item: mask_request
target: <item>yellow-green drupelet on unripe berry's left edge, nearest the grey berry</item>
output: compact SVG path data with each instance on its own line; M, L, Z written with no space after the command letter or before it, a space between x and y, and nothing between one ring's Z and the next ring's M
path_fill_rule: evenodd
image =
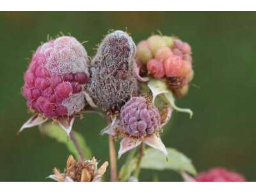
M143 40L137 45L136 57L143 64L147 64L147 62L153 58L147 41Z

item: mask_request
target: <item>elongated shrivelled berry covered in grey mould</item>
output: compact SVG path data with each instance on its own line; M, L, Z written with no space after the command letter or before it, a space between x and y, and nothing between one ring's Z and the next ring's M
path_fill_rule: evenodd
M90 68L87 92L104 110L120 109L132 93L138 92L134 74L136 46L127 33L109 33L99 46Z

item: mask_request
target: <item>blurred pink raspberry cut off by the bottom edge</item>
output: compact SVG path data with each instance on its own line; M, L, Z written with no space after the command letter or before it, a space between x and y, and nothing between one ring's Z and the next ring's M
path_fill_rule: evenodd
M217 181L246 181L246 179L243 177L243 175L236 173L236 172L230 172L226 170L225 168L212 168L208 172L200 173L195 177L196 181L200 182L217 182Z

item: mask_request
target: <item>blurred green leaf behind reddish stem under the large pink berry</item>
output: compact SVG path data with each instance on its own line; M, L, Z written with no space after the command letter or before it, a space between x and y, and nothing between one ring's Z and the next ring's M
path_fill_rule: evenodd
M50 138L65 144L69 152L73 154L76 159L80 159L74 143L68 138L67 133L63 131L63 129L61 129L58 124L45 124L42 127L41 131L43 134L49 136ZM76 140L79 143L80 147L82 148L83 154L85 155L86 159L92 158L92 152L90 151L90 148L86 145L86 141L84 140L83 136L79 132L72 132L76 137Z

